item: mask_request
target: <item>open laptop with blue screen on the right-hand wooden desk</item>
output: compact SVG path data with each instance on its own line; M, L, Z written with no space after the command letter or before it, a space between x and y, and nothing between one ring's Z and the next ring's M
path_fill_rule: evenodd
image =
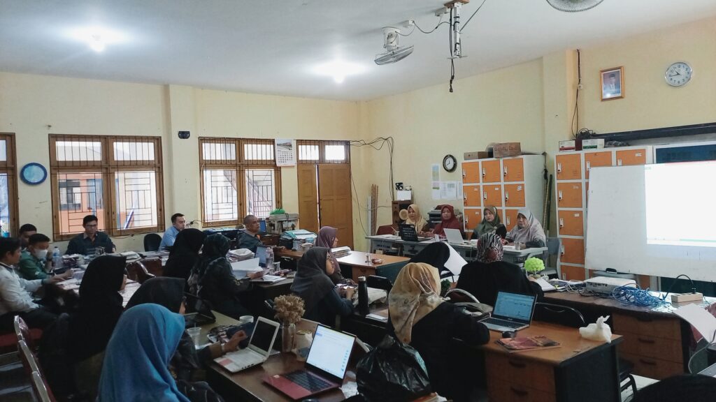
M498 292L495 308L490 318L480 323L490 330L521 330L530 326L536 297L522 293Z

